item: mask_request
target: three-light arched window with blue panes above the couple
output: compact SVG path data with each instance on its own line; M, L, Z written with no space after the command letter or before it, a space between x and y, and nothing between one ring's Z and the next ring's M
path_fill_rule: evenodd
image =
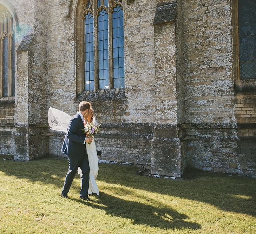
M122 0L87 0L83 8L84 90L124 88Z

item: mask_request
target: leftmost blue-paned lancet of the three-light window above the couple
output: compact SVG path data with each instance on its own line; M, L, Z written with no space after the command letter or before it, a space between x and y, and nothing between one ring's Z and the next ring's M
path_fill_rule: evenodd
M94 89L94 55L93 55L93 15L88 12L84 19L85 27L85 90Z

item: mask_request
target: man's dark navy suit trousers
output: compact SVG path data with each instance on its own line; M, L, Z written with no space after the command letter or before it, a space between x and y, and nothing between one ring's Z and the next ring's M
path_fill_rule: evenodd
M82 171L80 196L88 196L90 167L86 152L83 157L68 156L68 172L62 189L62 194L64 196L67 195L70 190L73 179L77 174L78 167L80 167Z

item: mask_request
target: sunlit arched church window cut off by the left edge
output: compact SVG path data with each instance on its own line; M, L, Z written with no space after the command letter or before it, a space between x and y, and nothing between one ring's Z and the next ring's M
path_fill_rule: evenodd
M8 9L0 5L0 97L15 95L15 27Z

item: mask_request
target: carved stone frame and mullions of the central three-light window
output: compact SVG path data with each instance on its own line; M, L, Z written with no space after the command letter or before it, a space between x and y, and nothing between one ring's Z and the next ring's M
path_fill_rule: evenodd
M84 6L88 5L90 0L81 0L77 4L76 8L76 93L81 94L85 91L84 85L84 15L88 12ZM124 0L123 0L124 1ZM123 1L119 0L108 0L107 14L108 14L108 24L109 24L109 89L113 89L113 51L112 51L112 12L116 5L120 5L124 11ZM94 4L93 4L94 2ZM98 79L98 11L101 7L97 7L97 0L91 0L92 11L93 12L93 25L94 25L94 90L96 92L99 89L99 79ZM133 1L129 2L131 4ZM125 14L125 12L124 12ZM124 89L124 88L120 88Z

